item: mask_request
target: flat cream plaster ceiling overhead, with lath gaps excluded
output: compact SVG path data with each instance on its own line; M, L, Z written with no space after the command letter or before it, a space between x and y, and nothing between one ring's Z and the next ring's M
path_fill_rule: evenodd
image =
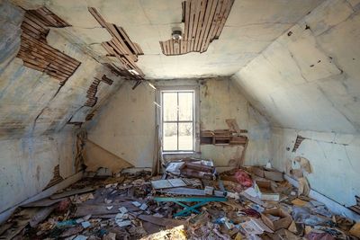
M100 46L111 36L100 27L87 7L96 8L107 22L121 26L144 51L137 63L145 78L231 76L311 12L322 0L236 0L219 40L205 53L165 56L159 41L171 37L173 27L184 31L182 0L14 0L23 7L46 5L72 27L58 30L98 58L106 52ZM86 45L86 46L85 46Z

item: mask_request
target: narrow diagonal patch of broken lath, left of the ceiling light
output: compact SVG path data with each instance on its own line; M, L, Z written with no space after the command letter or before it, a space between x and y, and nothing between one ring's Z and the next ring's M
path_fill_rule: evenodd
M120 60L122 65L119 71L121 73L120 75L130 76L131 79L143 79L143 72L135 64L135 62L138 61L138 56L144 54L139 44L132 42L128 34L121 27L106 22L94 7L89 7L88 10L93 14L96 21L112 35L112 40L103 42L102 45L110 56ZM127 71L128 74L130 73L130 75L124 74L124 70Z

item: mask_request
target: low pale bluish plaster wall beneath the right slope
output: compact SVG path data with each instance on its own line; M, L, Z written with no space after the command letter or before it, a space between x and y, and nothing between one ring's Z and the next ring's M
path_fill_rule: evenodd
M311 189L342 205L356 205L360 194L360 136L294 129L272 129L272 164L284 171L286 161L307 158L313 173L307 175ZM295 153L296 136L306 138ZM289 147L290 150L286 150Z

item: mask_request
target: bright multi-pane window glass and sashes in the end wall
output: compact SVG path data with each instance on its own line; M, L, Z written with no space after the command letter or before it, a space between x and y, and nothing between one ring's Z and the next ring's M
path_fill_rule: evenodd
M164 152L194 151L194 91L161 91Z

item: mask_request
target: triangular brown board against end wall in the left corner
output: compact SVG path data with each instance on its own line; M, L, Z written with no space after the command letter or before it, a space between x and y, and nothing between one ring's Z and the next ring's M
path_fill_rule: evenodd
M126 160L112 154L90 140L86 141L84 152L87 172L96 172L99 168L103 167L111 170L112 173L119 173L124 168L133 167Z

